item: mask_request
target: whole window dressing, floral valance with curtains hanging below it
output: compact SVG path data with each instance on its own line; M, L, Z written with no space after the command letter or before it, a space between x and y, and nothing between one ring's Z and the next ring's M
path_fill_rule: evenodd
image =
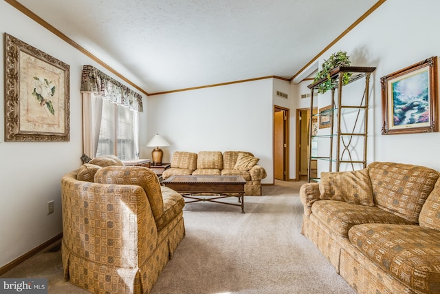
M91 65L83 66L81 93L84 154L138 158L142 96Z

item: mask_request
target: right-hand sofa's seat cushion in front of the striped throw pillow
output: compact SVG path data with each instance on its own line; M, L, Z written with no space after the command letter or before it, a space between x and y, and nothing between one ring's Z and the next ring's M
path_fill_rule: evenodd
M355 224L412 224L378 207L366 207L336 200L319 200L311 206L312 215L331 229L336 235L348 237Z

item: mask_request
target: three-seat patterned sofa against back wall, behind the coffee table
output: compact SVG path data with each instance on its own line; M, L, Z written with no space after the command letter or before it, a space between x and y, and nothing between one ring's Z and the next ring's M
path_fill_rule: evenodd
M257 165L259 158L245 151L200 151L198 154L176 151L171 158L171 167L162 178L170 176L208 175L243 176L246 180L245 195L261 196L261 180L266 171Z

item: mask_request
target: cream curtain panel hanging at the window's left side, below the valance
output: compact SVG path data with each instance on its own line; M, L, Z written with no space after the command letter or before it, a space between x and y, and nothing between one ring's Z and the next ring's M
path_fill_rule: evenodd
M102 117L102 98L91 92L83 92L83 153L96 156Z

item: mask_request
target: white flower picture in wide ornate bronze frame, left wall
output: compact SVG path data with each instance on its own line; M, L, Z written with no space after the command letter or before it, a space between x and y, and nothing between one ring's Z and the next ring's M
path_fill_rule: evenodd
M5 33L5 140L69 141L66 63Z

